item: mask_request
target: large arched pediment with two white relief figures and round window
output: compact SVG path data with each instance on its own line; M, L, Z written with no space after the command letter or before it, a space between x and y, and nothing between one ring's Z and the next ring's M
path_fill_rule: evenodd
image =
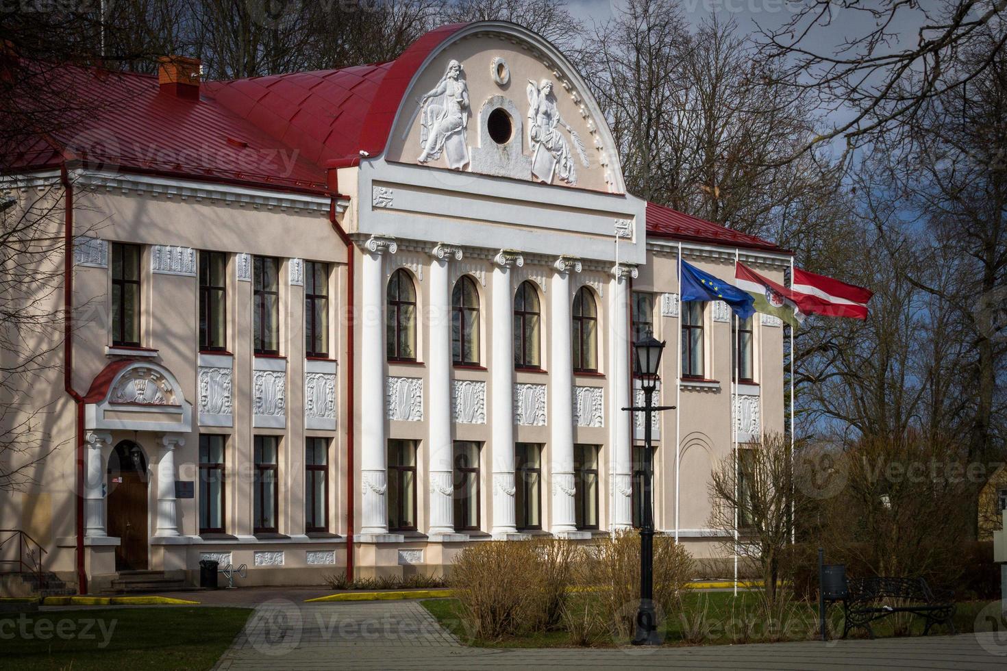
M623 193L612 135L567 58L521 26L484 21L427 54L399 108L386 158Z

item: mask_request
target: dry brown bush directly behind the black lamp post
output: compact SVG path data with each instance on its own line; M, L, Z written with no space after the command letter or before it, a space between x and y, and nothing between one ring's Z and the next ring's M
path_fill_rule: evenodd
M639 533L616 532L585 555L586 581L598 590L602 612L613 633L630 636L639 602ZM693 558L670 536L654 537L654 602L659 618L679 610L680 596L693 574ZM661 622L658 623L659 627Z

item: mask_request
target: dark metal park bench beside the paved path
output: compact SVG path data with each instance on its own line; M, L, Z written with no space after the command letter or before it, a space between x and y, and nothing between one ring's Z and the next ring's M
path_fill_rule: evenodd
M871 623L893 613L912 613L925 618L923 636L933 625L948 625L955 634L955 603L953 593L930 590L921 577L860 577L850 578L849 594L843 603L846 623L843 638L853 629L862 627L873 639Z

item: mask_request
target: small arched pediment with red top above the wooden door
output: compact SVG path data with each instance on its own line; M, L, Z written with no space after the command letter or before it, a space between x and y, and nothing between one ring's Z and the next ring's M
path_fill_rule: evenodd
M170 370L148 360L111 362L92 382L85 397L89 430L186 433L192 404Z

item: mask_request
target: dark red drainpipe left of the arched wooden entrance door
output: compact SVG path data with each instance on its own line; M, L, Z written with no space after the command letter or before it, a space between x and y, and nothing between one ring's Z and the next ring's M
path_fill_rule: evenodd
M66 161L59 166L59 181L63 187L63 388L77 406L77 584L78 592L88 594L88 572L84 561L84 396L74 388L74 185L69 181Z

